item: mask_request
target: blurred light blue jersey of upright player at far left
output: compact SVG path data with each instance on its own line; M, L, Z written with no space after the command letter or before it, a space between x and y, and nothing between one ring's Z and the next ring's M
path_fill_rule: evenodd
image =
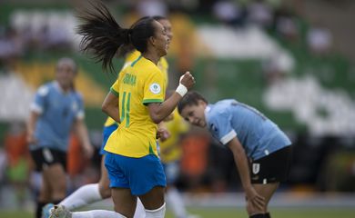
M37 144L31 144L30 149L49 147L66 152L74 122L84 118L81 95L65 93L56 82L44 84L35 94L31 110L40 115L35 124Z

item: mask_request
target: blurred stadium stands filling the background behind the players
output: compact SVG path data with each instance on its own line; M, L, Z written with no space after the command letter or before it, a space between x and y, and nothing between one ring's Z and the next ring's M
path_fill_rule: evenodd
M355 217L354 1L104 2L126 27L143 15L170 19L170 88L190 71L197 80L195 90L209 102L236 98L258 108L289 135L294 144L289 182L280 186L271 206L346 207L349 217ZM79 52L75 10L85 3L0 0L0 213L33 210L39 181L32 173L25 121L36 88L54 78L59 57L73 57L79 64L76 87L84 95L96 152L100 147L106 120L100 106L117 74L104 74L100 64ZM115 64L119 71L123 60ZM195 128L180 145L177 187L188 205L243 210L229 151ZM68 192L96 183L99 164L98 154L83 157L73 134Z

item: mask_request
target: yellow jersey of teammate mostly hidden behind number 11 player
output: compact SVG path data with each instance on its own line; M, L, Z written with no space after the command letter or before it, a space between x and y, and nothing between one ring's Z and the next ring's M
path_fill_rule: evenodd
M126 60L125 60L125 64L123 65L122 69L124 69L127 65L132 64L135 60L137 60L137 58L139 56L140 56L140 52L138 52L137 50L133 51L130 54L127 54L127 57L126 57ZM166 87L167 87L167 83L168 83L167 70L168 70L168 67L169 67L169 65L167 64L167 59L165 57L161 57L159 62L157 63L157 67L159 67L161 72L163 72L164 81L165 81ZM108 116L104 126L110 126L112 124L116 124L116 121Z

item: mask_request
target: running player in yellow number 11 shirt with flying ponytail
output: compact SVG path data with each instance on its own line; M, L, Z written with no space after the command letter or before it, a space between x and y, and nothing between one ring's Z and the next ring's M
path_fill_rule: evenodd
M55 206L51 216L133 217L139 196L146 217L164 217L166 180L157 157L157 124L172 113L195 79L190 73L184 74L176 92L164 101L166 83L157 67L160 57L167 54L169 43L163 25L148 17L125 29L105 5L94 7L95 11L81 16L85 24L79 25L85 51L95 54L104 69L113 68L112 59L122 46L133 45L141 53L112 86L108 95L116 95L116 101L103 105L103 111L119 124L105 147L115 212L69 213L65 207Z

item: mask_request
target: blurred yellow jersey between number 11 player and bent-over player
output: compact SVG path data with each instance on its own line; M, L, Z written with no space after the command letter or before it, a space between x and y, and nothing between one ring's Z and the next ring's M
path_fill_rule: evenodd
M177 161L181 157L181 144L179 137L188 132L187 122L177 113L173 112L174 118L165 122L164 125L170 132L170 137L165 142L160 142L160 158L163 163Z

